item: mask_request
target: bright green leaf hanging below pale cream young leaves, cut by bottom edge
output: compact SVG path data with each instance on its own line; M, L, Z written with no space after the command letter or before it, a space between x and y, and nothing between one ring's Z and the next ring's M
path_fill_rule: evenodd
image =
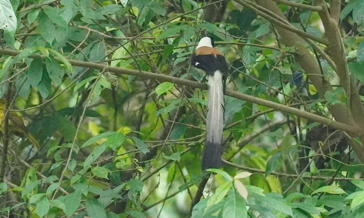
M225 205L222 210L223 218L246 218L245 199L237 191L230 189L225 199Z

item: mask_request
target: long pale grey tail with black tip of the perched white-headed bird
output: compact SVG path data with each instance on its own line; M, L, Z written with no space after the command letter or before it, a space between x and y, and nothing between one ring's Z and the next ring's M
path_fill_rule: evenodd
M224 94L222 73L219 70L209 76L209 103L207 106L205 150L202 154L202 170L221 166L222 129L224 121Z

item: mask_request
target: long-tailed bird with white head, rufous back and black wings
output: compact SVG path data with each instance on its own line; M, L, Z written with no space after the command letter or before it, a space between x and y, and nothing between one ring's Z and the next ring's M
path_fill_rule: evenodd
M214 40L203 37L192 55L191 64L209 75L209 100L206 117L205 149L202 152L202 170L222 165L222 130L224 122L224 92L227 64L222 52L214 47Z

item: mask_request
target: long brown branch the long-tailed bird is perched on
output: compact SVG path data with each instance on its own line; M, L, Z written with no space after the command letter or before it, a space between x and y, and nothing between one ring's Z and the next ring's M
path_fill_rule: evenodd
M4 55L16 56L20 52L19 51L14 51L14 50L9 50L9 49L0 49L0 53L4 54ZM38 56L38 55L32 55L30 57L34 58L36 56ZM56 60L59 61L59 62L62 62L58 58L56 58ZM146 71L142 71L142 70L132 70L132 69L125 69L125 68L118 68L118 67L115 67L115 66L107 66L107 65L103 65L103 64L96 64L96 63L93 63L93 62L75 61L75 60L70 60L70 59L67 59L67 60L71 63L72 66L80 66L80 67L84 67L84 68L92 68L92 69L98 69L98 70L107 70L108 72L112 72L112 73L114 73L115 75L118 75L118 76L121 76L123 74L132 75L132 76L140 76L140 77L143 77L143 78L158 80L160 82L173 82L173 83L179 84L179 85L186 85L186 86L190 86L192 88L199 88L199 89L207 90L207 85L206 84L191 81L191 80L181 79L181 78L177 78L177 77L173 77L173 76L167 76L167 75L164 75L164 74L151 73L151 72L146 72ZM238 99L241 99L241 100L244 100L244 101L252 102L254 104L267 106L269 108L280 110L282 112L291 113L291 114L294 114L294 115L299 116L299 117L304 117L304 118L307 118L309 120L320 122L322 124L332 126L333 128L343 130L345 132L356 134L358 136L362 134L361 129L359 129L355 125L347 125L347 124L344 124L344 123L333 121L333 120L330 120L328 118L321 117L321 116L318 116L316 114L312 114L312 113L309 113L309 112L306 112L306 111L303 111L303 110L299 110L299 109L296 109L296 108L291 108L291 107L286 106L286 105L278 104L278 103L275 103L275 102L272 102L272 101L267 101L267 100L264 100L264 99L261 99L261 98L249 96L247 94L235 92L235 91L232 91L232 90L226 90L226 95L234 97L234 98L238 98Z

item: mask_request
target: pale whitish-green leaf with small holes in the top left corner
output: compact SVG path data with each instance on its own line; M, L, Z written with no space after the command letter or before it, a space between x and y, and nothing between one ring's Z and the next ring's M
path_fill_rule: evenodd
M9 32L16 30L17 19L9 0L0 1L0 27Z

